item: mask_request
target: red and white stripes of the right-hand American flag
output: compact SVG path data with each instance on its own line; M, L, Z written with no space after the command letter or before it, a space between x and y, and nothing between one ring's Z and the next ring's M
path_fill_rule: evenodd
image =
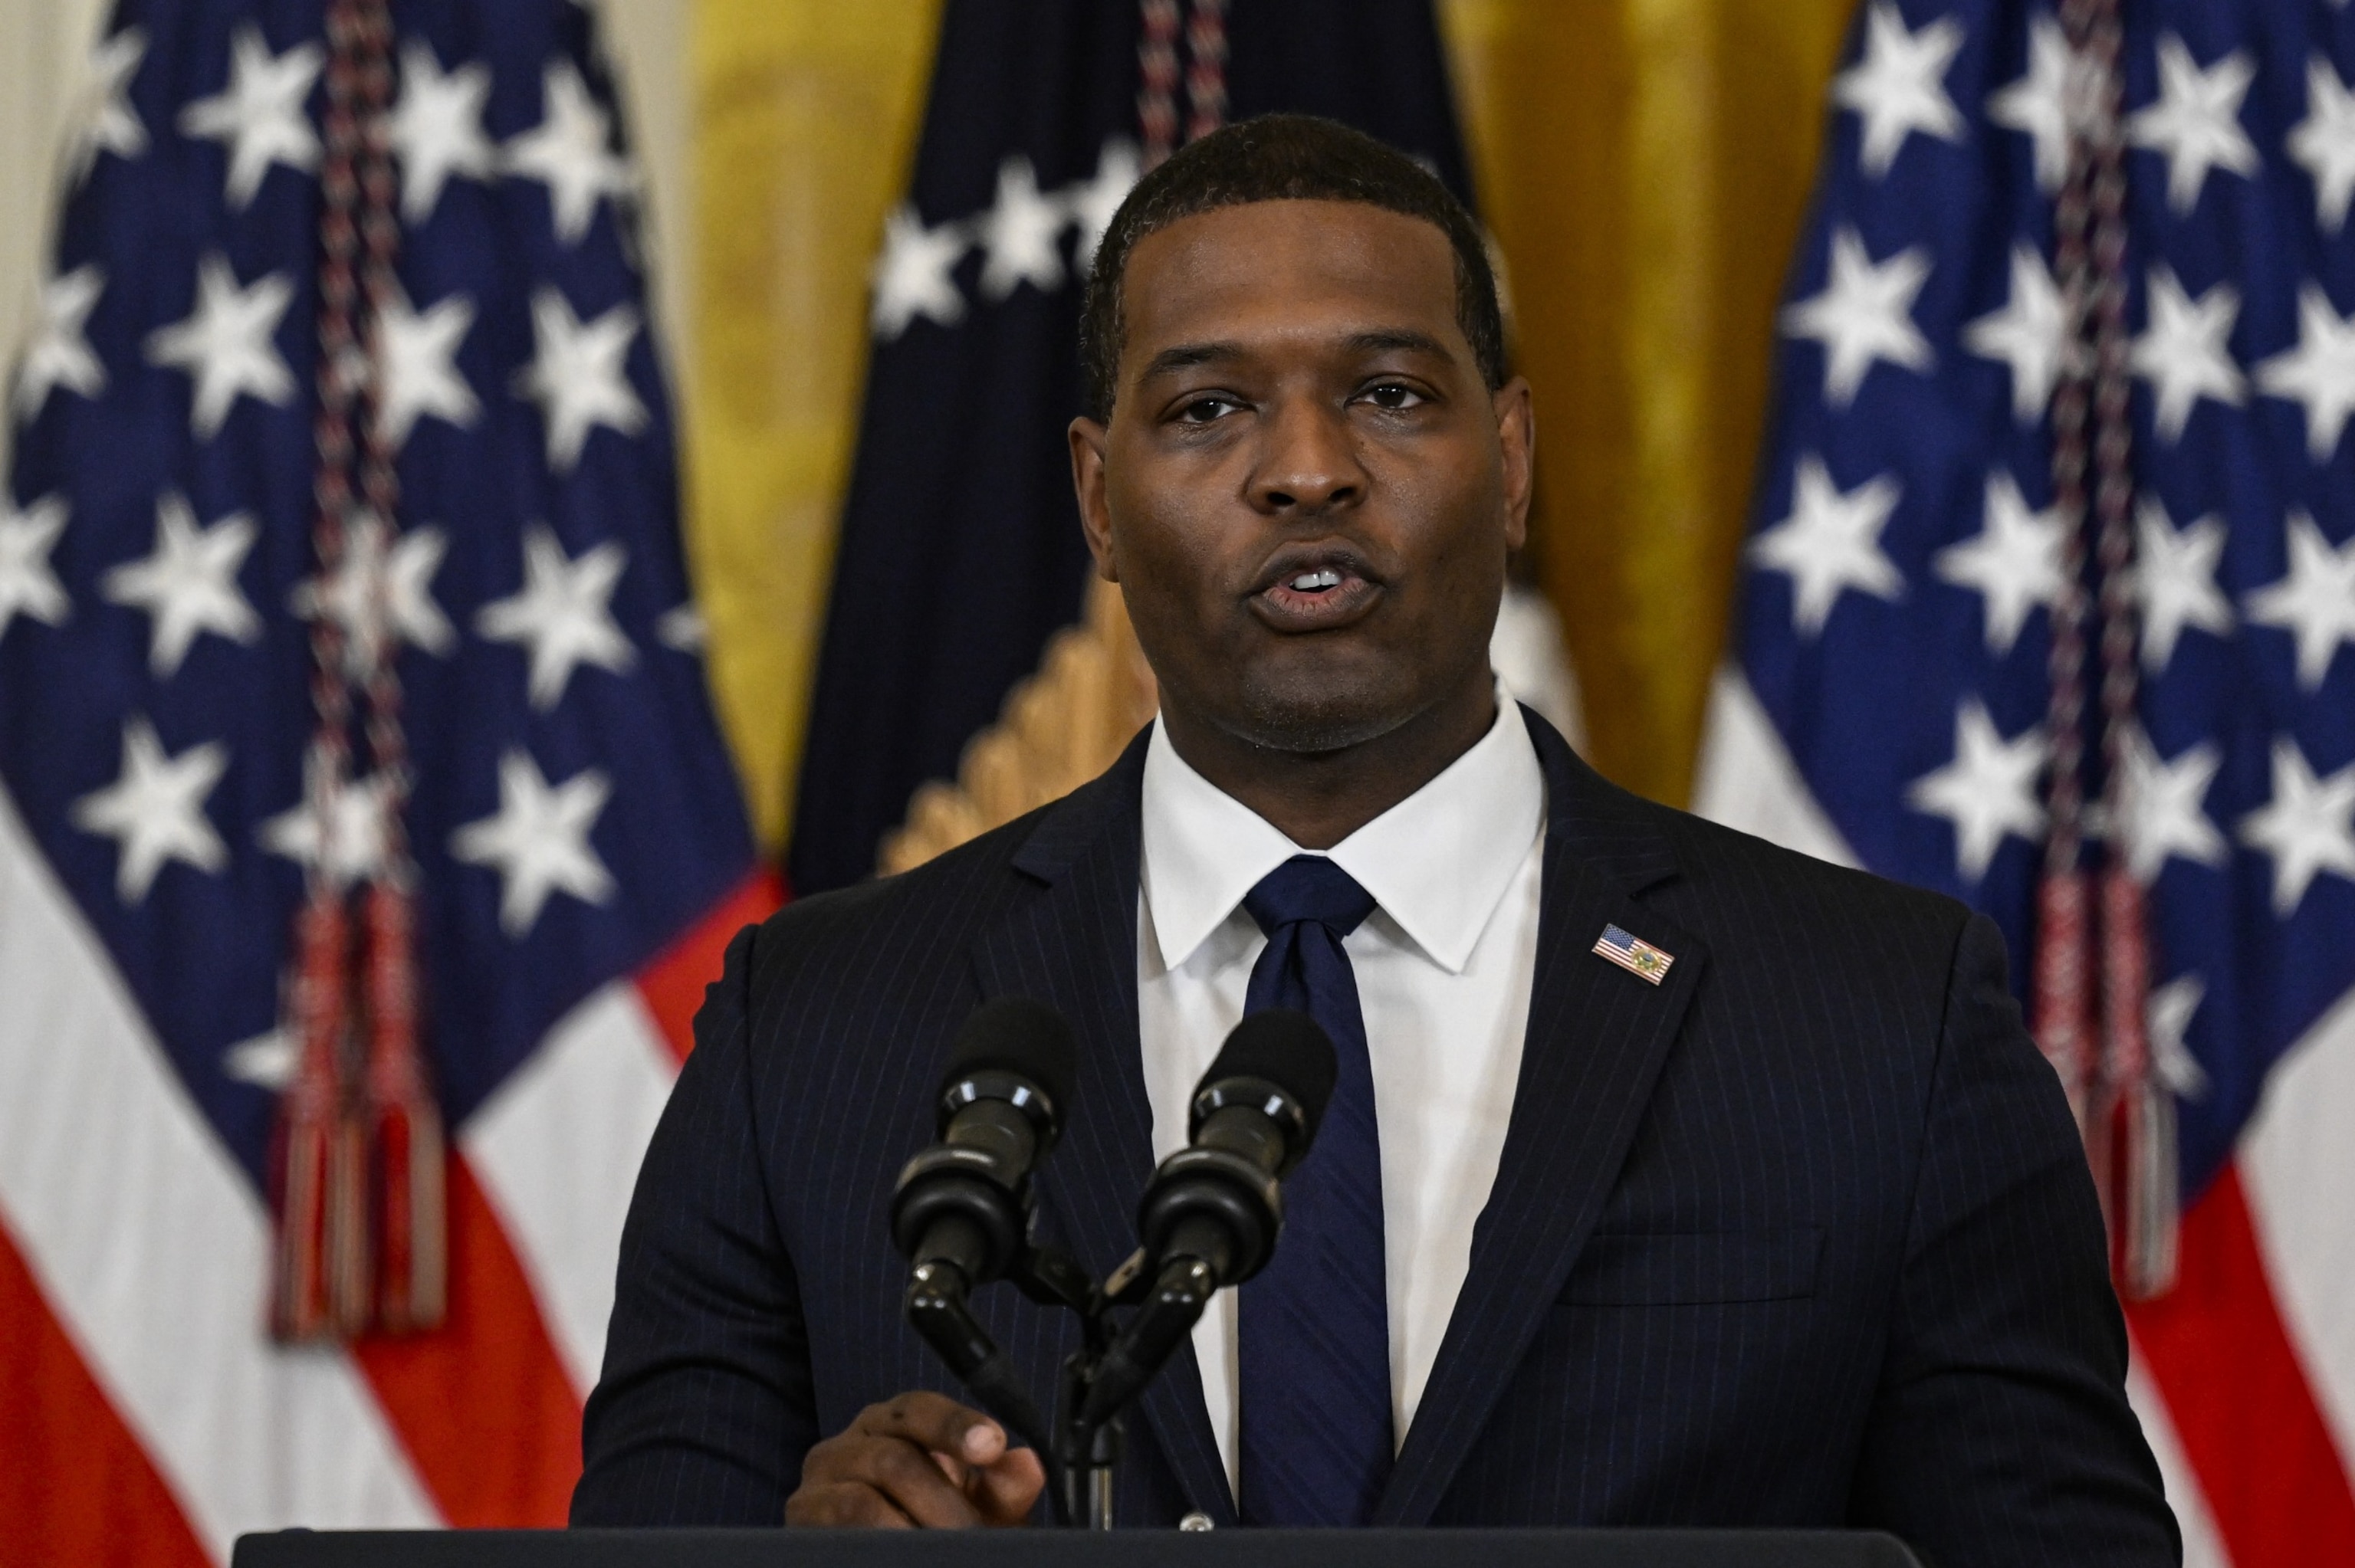
M1717 676L1693 810L1844 866L1740 671ZM2127 1391L2188 1568L2355 1563L2355 991L2282 1059L2183 1212L2176 1288L2131 1302Z

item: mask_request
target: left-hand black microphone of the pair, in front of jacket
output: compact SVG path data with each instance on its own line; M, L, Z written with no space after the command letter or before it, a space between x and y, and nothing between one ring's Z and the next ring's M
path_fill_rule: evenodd
M1006 1274L1029 1222L1029 1175L1062 1135L1079 1043L1053 1008L1020 996L966 1019L940 1078L940 1142L900 1170L890 1234L914 1269L947 1264L958 1288Z

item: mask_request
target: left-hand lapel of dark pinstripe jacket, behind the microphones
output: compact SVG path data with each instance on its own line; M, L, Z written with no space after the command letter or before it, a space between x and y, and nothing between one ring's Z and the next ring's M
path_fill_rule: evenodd
M1048 808L1015 855L1041 895L975 949L984 998L1029 996L1079 1034L1079 1090L1039 1172L1041 1205L1081 1267L1102 1278L1137 1245L1135 1203L1154 1172L1154 1111L1137 1041L1137 855L1145 737ZM1142 1401L1145 1422L1194 1507L1236 1523L1192 1340Z

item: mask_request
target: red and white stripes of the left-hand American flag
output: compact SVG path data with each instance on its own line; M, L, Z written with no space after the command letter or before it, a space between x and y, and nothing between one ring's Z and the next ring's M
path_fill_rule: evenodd
M638 1158L747 881L459 1130L445 1330L264 1330L268 1215L0 791L0 1561L221 1563L292 1523L560 1523Z

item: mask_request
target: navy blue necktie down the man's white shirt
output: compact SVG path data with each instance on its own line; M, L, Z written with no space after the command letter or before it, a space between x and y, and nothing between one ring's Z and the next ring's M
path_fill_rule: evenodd
M1382 1140L1356 972L1340 939L1373 895L1295 855L1243 897L1267 932L1243 1012L1298 1008L1333 1036L1340 1078L1309 1158L1283 1184L1283 1238L1243 1285L1241 1511L1255 1526L1361 1526L1394 1457Z

